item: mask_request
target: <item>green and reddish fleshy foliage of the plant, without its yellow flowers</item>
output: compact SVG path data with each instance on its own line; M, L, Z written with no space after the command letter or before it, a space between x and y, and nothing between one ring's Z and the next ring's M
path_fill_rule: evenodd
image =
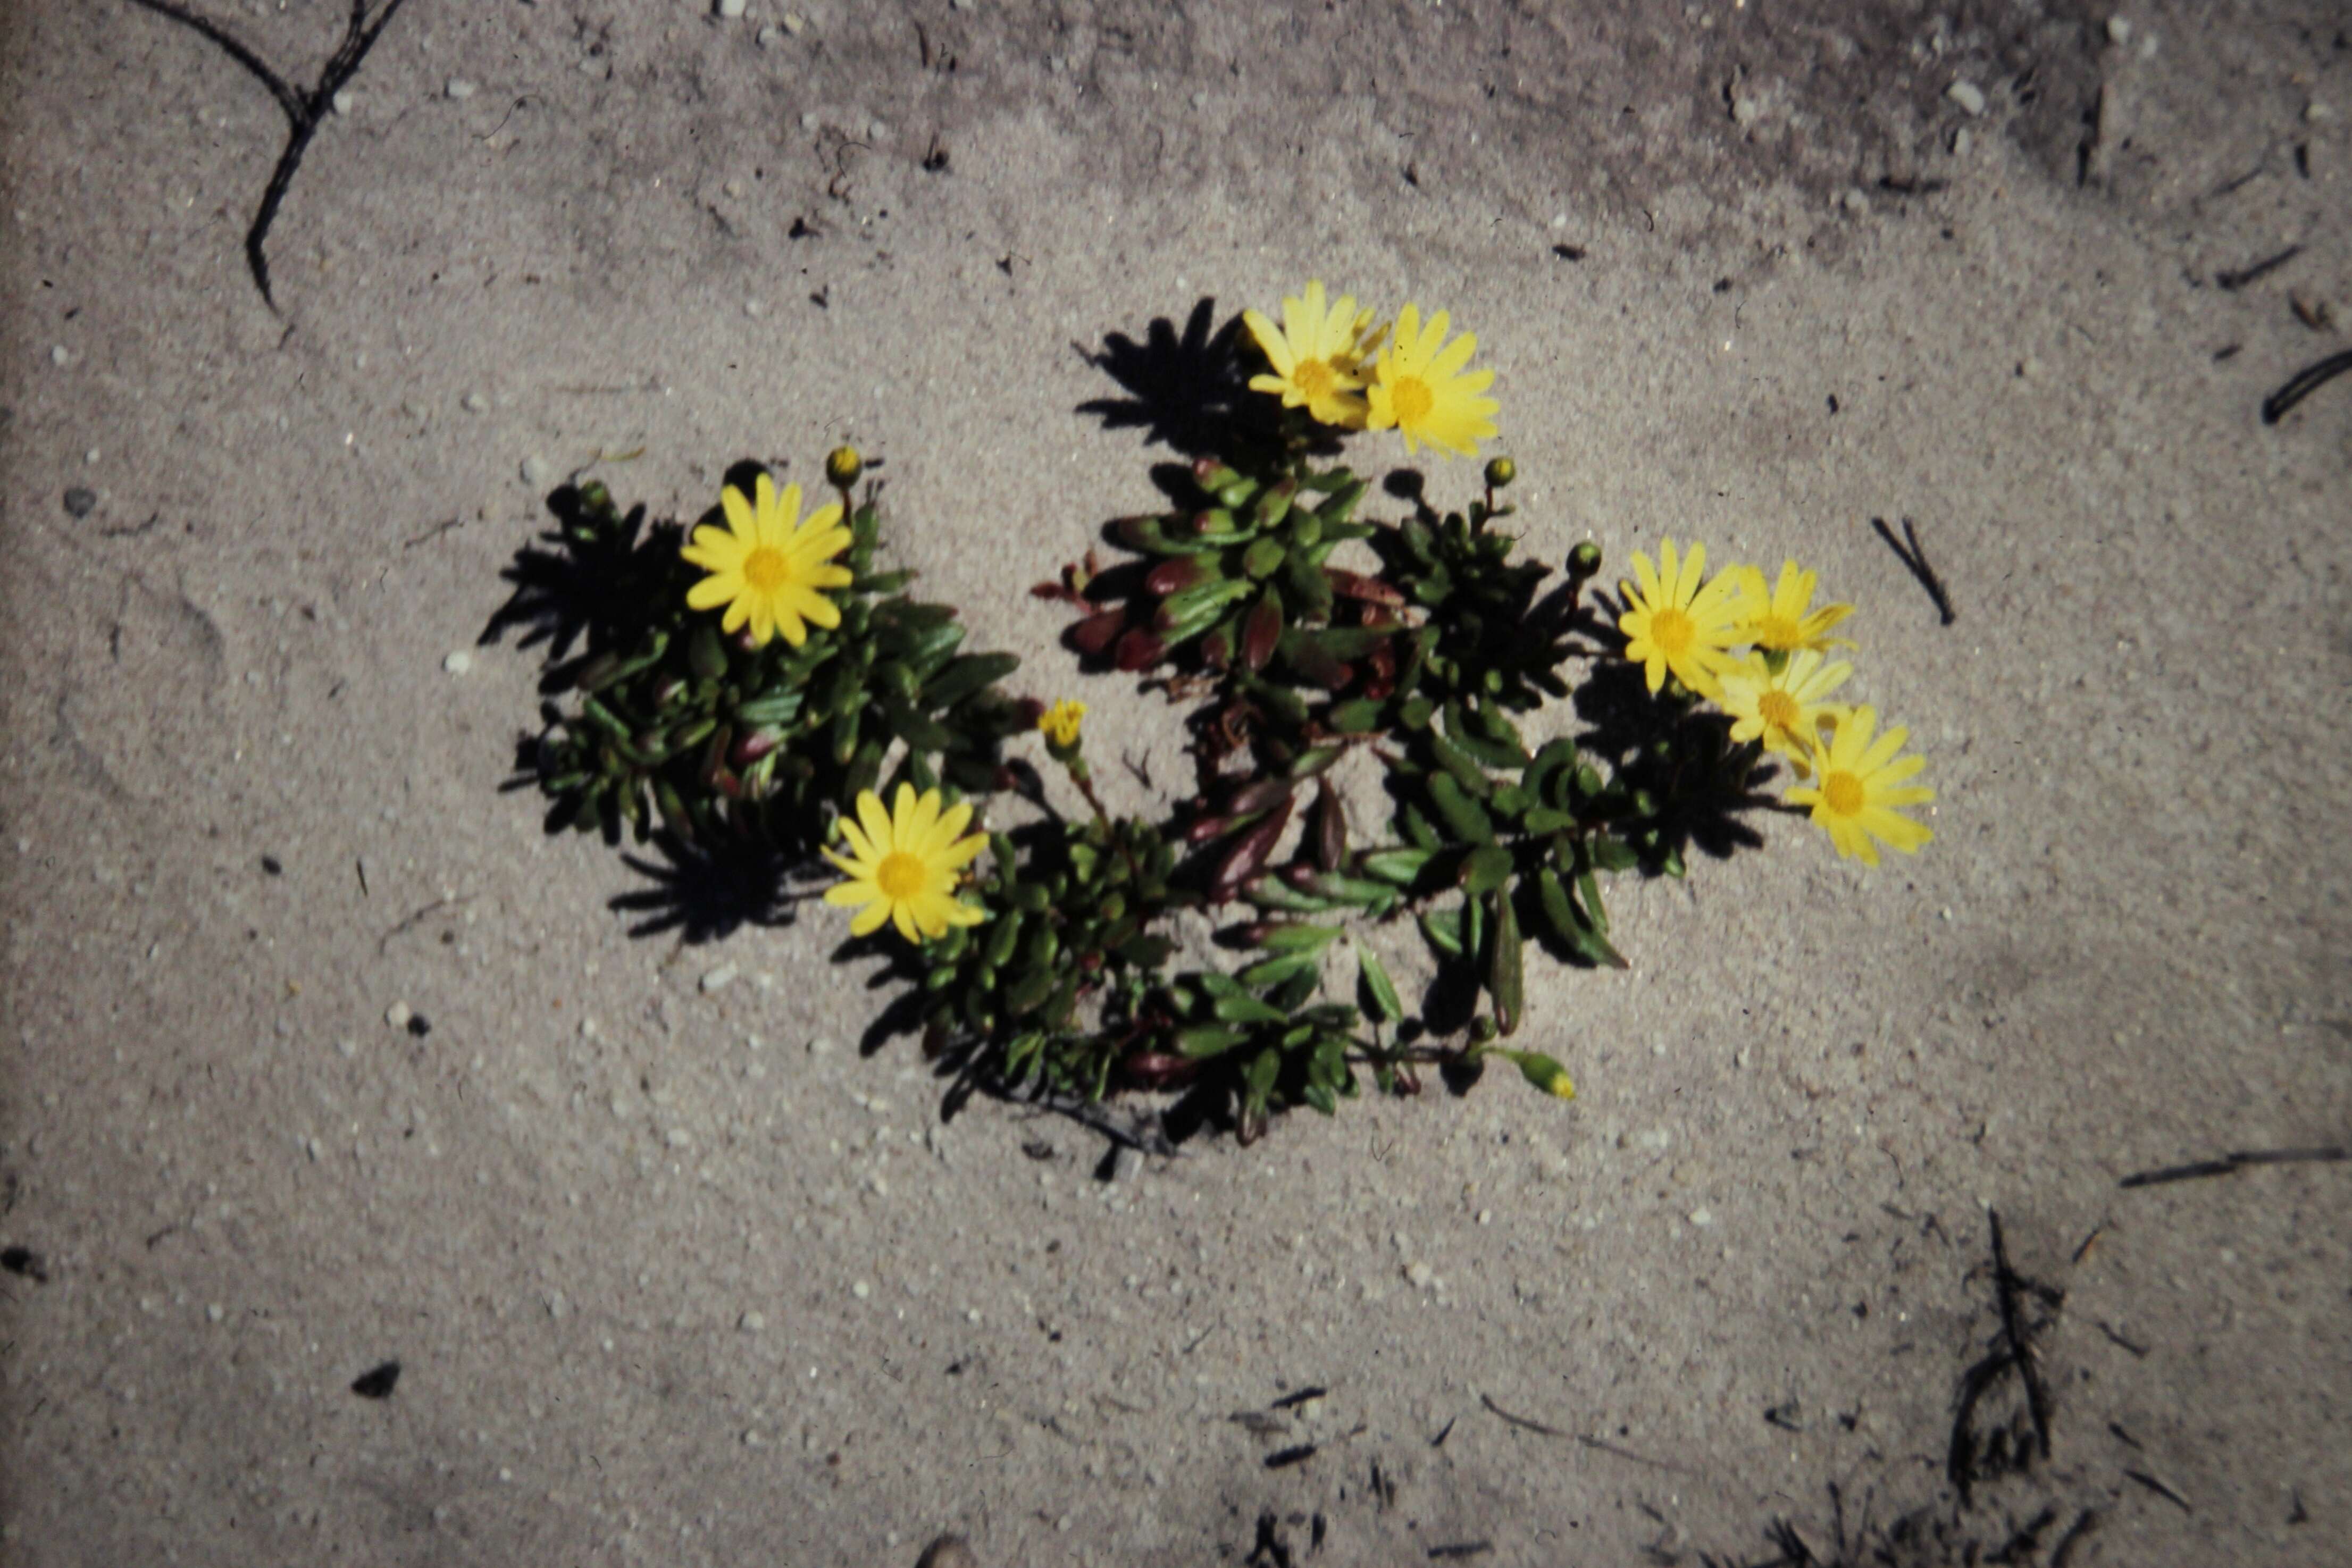
M550 682L576 698L550 703L539 741L550 818L644 837L659 811L706 851L757 839L807 858L866 790L910 783L953 804L1023 788L1047 811L990 835L962 893L983 919L901 947L943 1070L1061 1100L1188 1091L1244 1140L1289 1107L1331 1112L1367 1079L1416 1093L1425 1067L1461 1081L1486 1058L1569 1095L1557 1060L1503 1044L1526 1023L1529 945L1623 966L1602 877L1679 877L1691 813L1738 802L1759 755L1693 722L1677 689L1649 698L1656 722L1630 750L1588 750L1557 722L1529 738L1602 651L1581 609L1599 550L1578 545L1545 595L1550 569L1498 527L1512 477L1498 458L1461 512L1406 489L1411 515L1371 522L1367 480L1317 468L1298 425L1256 458L1197 463L1171 510L1115 522L1131 569L1089 555L1040 585L1080 614L1082 656L1192 705L1200 792L1164 820L1105 811L1075 733L1047 752L1084 811L1054 809L1051 785L1007 766L1007 738L1037 726L1042 703L1002 691L1009 654L962 654L955 611L906 597L910 574L875 571L873 487L851 512L840 625L764 649L687 609L675 529L644 550L642 508L621 520L583 487L567 548L630 585ZM1334 564L1345 545L1357 567ZM1352 759L1381 769L1388 818L1371 835L1350 830L1334 780ZM1242 961L1178 966L1181 910L1242 910L1218 931ZM1404 917L1439 969L1432 994L1470 997L1454 1018L1411 1016L1352 940ZM1343 947L1352 966L1327 973ZM1352 987L1334 994L1331 978Z

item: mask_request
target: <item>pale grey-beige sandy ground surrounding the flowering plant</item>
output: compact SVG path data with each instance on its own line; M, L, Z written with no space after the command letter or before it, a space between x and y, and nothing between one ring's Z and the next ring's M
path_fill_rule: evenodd
M301 85L343 16L214 5ZM0 1559L2345 1561L2352 1166L2119 1178L2352 1124L2352 383L2256 414L2343 346L2298 303L2352 320L2352 49L2119 16L409 0L273 313L270 96L9 5ZM597 473L694 515L842 437L974 642L1176 778L1023 588L1169 456L1087 353L1308 275L1479 331L1543 557L1818 564L1936 844L1625 886L1635 969L1531 997L1571 1107L1096 1180L856 1048L833 912L680 929L499 790L522 465L642 447ZM2053 1458L1962 1505L1987 1208L2063 1291Z

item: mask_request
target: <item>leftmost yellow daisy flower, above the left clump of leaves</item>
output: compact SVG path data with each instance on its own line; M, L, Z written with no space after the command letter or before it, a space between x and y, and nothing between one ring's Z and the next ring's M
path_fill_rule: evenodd
M809 625L840 625L842 611L821 590L847 588L849 567L830 564L849 548L849 529L840 527L840 503L821 505L800 517L800 487L760 475L753 498L736 487L720 491L727 527L694 529L694 543L680 555L710 576L687 590L691 609L727 607L720 630L750 625L753 646L783 632L795 649L809 639Z

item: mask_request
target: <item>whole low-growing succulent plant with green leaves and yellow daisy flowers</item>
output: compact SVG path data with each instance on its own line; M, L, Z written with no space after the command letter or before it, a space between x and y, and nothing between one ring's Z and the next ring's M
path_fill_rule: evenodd
M583 595L602 607L579 618L586 651L550 675L576 698L539 741L550 820L826 846L844 875L826 900L856 907L856 938L898 933L901 1009L943 1072L1054 1103L1183 1091L1244 1143L1282 1110L1418 1093L1430 1067L1461 1084L1489 1058L1573 1095L1555 1056L1505 1044L1531 947L1625 969L1606 879L1759 844L1745 811L1804 809L1867 863L1929 839L1903 813L1931 799L1905 731L1835 701L1851 607L1813 609L1813 574L1708 576L1668 538L1609 602L1599 545L1557 578L1519 555L1510 458L1449 512L1390 475L1409 512L1367 517L1374 484L1331 461L1350 435L1442 458L1496 435L1477 341L1414 306L1390 331L1322 284L1282 327L1242 322L1249 388L1279 414L1197 458L1169 510L1108 527L1134 567L1089 550L1035 588L1075 611L1087 668L1185 708L1188 799L1105 806L1084 705L1004 693L1011 656L960 651L955 611L877 569L877 491L849 510L844 449L837 505L800 520L797 487L746 468L654 548L600 487L557 496L574 569L628 590ZM1004 755L1018 731L1065 790ZM1028 820L983 823L1016 783ZM1350 795L1383 802L1371 832ZM1188 945L1202 914L1240 964ZM1406 917L1437 971L1418 1013L1376 952Z

